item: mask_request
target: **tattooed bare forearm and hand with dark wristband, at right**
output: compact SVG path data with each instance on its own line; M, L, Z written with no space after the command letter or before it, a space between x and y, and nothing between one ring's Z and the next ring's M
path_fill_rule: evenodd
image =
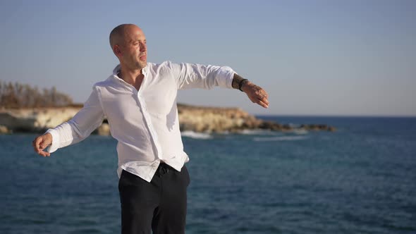
M269 107L269 94L267 94L266 90L263 90L262 87L242 78L237 73L234 74L232 86L234 89L245 92L253 103L257 103L264 108Z

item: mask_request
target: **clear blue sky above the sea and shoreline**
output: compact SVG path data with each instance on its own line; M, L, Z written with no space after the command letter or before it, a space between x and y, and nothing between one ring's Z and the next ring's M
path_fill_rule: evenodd
M262 115L416 116L416 1L0 1L0 80L84 102L135 23L148 61L231 66L269 92L187 90L178 101Z

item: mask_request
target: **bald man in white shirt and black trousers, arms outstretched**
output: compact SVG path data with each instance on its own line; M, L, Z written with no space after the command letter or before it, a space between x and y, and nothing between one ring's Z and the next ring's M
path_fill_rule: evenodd
M120 61L113 75L94 85L70 121L36 137L33 147L50 156L84 140L107 118L118 140L122 233L185 233L189 159L179 131L177 91L234 88L264 108L267 92L228 67L147 63L146 37L137 25L115 27L110 45Z

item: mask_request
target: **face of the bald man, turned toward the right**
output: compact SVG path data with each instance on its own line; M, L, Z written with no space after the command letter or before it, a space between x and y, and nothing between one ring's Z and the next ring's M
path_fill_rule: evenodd
M142 69L147 65L146 37L140 27L128 27L124 35L123 62L130 69Z

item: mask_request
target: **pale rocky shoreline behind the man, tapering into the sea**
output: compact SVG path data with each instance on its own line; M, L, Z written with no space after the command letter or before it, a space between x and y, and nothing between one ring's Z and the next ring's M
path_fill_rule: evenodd
M0 134L44 133L70 120L81 106L36 108L36 109L0 109ZM178 104L178 116L181 131L196 133L240 133L243 130L263 129L290 132L294 130L335 131L333 126L302 124L299 127L281 125L273 121L264 121L238 108L219 108ZM93 134L109 135L109 125L104 120Z

